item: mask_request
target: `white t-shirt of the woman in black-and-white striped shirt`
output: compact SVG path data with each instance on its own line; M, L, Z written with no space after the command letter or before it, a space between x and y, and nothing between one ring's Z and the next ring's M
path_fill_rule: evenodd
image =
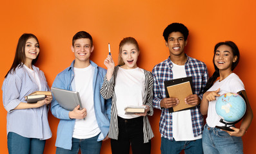
M124 119L139 117L135 114L124 114L124 108L129 105L143 105L145 94L145 77L143 69L123 69L119 67L115 78L115 97L117 115Z

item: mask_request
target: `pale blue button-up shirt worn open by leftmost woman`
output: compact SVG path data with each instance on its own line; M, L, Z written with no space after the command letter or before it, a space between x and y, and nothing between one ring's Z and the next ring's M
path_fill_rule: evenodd
M41 90L48 91L44 73L32 65L34 71L38 73L41 82ZM14 110L21 102L25 101L25 96L38 91L39 87L25 67L19 65L15 73L9 73L3 82L3 105L7 110L7 134L17 133L23 137L36 139L49 139L52 132L48 124L48 108L43 105L39 108L28 108Z

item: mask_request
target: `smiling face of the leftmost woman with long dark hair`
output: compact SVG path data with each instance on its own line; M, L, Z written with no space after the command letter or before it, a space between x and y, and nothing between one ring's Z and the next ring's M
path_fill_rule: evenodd
M37 58L37 55L39 54L39 44L37 40L35 40L33 37L26 40L25 44L25 65L32 64L32 60Z

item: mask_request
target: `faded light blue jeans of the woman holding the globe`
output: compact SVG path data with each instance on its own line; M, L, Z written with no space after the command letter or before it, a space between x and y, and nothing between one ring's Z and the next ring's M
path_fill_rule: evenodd
M227 132L219 128L211 128L207 124L204 125L202 132L202 148L204 153L243 153L242 138L230 136Z

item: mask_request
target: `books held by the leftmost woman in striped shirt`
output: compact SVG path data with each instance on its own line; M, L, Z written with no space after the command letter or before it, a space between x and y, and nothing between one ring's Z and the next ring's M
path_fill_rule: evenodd
M25 96L26 103L36 103L37 101L41 101L46 96L52 96L52 92L50 91L35 91L29 94L28 96Z

